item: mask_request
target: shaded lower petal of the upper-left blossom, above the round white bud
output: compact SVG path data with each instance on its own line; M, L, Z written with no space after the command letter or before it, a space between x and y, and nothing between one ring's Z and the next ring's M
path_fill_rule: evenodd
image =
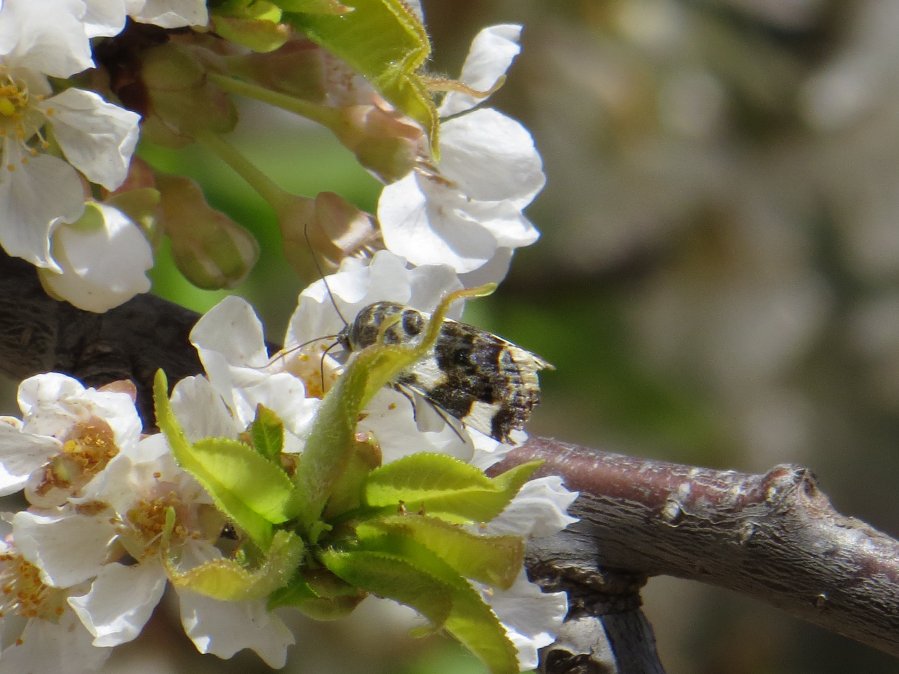
M0 175L0 244L10 255L60 271L50 257L50 234L59 221L81 216L81 181L75 169L57 157L40 154L22 160L19 145L5 139L3 161L13 169Z

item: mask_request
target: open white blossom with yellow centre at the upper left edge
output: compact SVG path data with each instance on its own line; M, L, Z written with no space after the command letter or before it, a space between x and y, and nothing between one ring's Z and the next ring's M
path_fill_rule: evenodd
M71 88L53 96L47 75L67 77L92 65L87 39L74 3L25 4L7 0L0 7L0 244L59 272L50 236L81 216L79 172L107 189L118 187L137 143L139 116L93 92ZM59 16L47 21L54 9ZM44 152L48 130L65 159Z

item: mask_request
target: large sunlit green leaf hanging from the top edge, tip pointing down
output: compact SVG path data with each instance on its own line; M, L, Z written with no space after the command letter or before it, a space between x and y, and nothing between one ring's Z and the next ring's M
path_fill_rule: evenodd
M424 26L402 0L344 0L343 4L353 11L290 14L285 20L349 63L387 100L418 121L436 150L437 108L419 72L431 53Z

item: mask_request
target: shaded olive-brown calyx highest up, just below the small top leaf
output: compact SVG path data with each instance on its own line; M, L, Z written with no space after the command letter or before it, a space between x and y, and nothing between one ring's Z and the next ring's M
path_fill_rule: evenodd
M141 133L154 143L182 147L237 123L231 99L208 82L203 59L185 46L168 43L145 51L141 76L149 101Z

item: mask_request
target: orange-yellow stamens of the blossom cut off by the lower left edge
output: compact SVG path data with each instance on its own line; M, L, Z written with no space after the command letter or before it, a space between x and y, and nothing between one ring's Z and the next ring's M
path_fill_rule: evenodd
M38 568L14 552L0 554L0 592L0 617L57 622L66 609L65 590L44 585Z

